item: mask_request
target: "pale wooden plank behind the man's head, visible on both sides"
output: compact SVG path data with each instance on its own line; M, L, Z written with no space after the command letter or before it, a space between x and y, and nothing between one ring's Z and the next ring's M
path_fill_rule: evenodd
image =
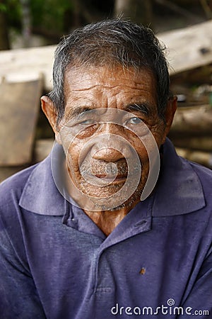
M167 47L170 74L212 63L212 20L187 28L158 33ZM55 45L0 52L0 77L16 74L44 74L45 90L52 90Z

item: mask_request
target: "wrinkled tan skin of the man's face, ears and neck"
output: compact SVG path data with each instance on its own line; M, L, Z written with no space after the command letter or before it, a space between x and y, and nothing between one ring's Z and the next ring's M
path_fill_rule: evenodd
M148 176L149 164L146 148L141 139L131 130L138 128L139 123L145 123L160 148L170 130L177 102L176 99L167 102L165 121L163 121L157 112L155 79L147 69L136 71L122 67L114 69L69 67L64 83L66 108L64 118L59 125L57 125L57 113L54 111L53 103L46 96L42 97L42 109L52 125L57 142L64 147L71 181L83 194L88 194L93 198L93 210L84 209L84 211L106 235L109 235L126 213L139 202ZM141 107L134 107L138 105ZM92 116L82 118L81 122L78 121L79 126L73 125L78 114L82 112L89 114L89 110L97 108L102 108L102 118L107 114L108 108L130 112L129 118L124 122L127 123L126 127L117 125L111 118L109 121L104 120L103 123L92 122ZM80 129L76 130L76 127ZM115 143L108 142L110 136L114 135L121 138L117 138ZM91 143L90 147L85 147L93 138L95 142ZM128 173L126 158L134 160L130 147L122 143L123 138L139 155L142 167L141 179L130 198L127 198L121 206L107 211L101 199L111 196L110 201L112 201L113 195L115 198L115 194L122 189L126 181ZM86 160L90 163L92 174L106 181L107 185L90 184L86 181L79 167L80 162L86 171L88 167ZM109 163L117 166L117 177L114 180L112 179L114 165ZM73 191L71 196L74 197ZM81 201L79 196L74 199ZM98 206L96 211L95 206Z

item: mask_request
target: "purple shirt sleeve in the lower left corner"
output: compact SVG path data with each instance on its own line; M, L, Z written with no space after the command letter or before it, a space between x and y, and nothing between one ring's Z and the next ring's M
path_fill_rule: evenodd
M0 218L1 319L44 319L35 284Z

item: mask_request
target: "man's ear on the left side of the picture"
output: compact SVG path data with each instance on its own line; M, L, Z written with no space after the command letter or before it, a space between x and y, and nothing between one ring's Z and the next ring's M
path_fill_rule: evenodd
M45 113L50 125L52 126L52 130L54 131L55 140L61 144L61 140L59 137L59 127L57 126L57 112L54 108L54 103L48 96L42 96L40 99L42 111Z

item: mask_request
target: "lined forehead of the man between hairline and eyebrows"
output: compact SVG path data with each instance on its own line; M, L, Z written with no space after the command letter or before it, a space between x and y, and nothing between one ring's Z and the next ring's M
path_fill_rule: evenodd
M156 104L155 77L148 69L123 67L69 67L64 77L66 103L100 99L108 103L140 99ZM112 105L102 106L112 107Z

